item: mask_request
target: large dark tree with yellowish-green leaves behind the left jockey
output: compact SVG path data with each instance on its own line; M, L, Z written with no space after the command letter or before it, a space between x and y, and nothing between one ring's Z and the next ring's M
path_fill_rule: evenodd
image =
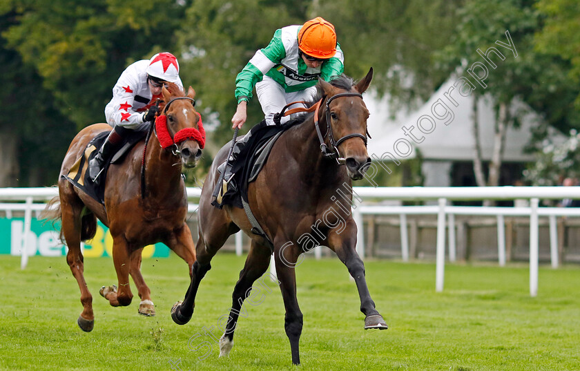
M9 88L2 91L3 102L14 101L10 109L15 114L6 115L10 121L0 126L11 128L12 140L19 143L17 168L30 170L30 185L47 184L34 169L54 169L48 184L55 182L74 133L104 121L110 89L128 64L175 48L173 34L188 4L172 0L1 4L0 58L12 66L5 69ZM14 117L23 122L16 129Z

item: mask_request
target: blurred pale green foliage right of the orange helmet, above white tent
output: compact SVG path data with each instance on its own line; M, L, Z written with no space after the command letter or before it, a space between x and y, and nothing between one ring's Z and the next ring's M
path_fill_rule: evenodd
M345 73L355 79L374 67L372 86L394 108L425 101L447 79L433 63L449 43L463 0L336 0L316 2L311 15L336 26Z

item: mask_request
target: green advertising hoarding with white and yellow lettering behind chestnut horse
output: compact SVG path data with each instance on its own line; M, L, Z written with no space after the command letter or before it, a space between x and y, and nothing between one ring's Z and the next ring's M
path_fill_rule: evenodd
M26 242L28 256L65 256L67 247L59 240L60 223L52 226L44 220L32 218L30 234ZM24 234L23 218L0 218L0 254L21 256ZM93 240L87 241L81 247L85 258L100 258L113 256L113 237L101 222L97 222L97 234ZM143 249L143 258L166 258L169 248L162 243L149 245Z

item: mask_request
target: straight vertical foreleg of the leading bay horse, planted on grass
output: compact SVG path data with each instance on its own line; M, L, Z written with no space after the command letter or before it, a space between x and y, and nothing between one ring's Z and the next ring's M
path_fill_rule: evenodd
M280 245L277 245L280 246ZM300 334L302 334L302 312L296 297L296 262L300 256L296 245L283 245L274 251L276 274L280 283L280 291L284 300L286 315L284 316L284 330L290 341L292 363L300 365Z

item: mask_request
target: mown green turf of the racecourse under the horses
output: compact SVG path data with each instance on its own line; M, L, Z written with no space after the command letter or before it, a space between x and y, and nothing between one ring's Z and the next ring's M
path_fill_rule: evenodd
M189 284L185 263L146 259L142 270L157 316L137 314L139 298L114 308L99 296L116 283L112 260L87 259L95 330L76 324L79 289L64 258L0 259L0 370L293 370L284 334L280 290L245 305L234 347L206 359L189 339L229 312L243 257L218 254L197 295L191 322L178 326L169 311ZM338 259L307 258L296 270L304 314L300 370L580 370L580 267L541 267L539 294L529 295L528 267L447 265L445 290L435 292L431 263L367 261L367 279L389 330L363 330L356 285ZM267 281L269 282L269 281ZM202 340L203 339L203 340ZM195 338L191 348L209 336ZM211 343L208 343L211 344Z

